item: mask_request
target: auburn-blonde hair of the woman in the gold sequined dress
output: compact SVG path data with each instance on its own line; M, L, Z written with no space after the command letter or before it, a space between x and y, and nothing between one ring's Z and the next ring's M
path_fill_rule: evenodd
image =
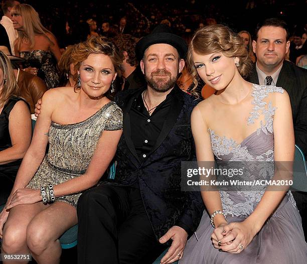
M121 64L123 61L123 54L119 52L114 43L108 40L106 37L90 37L86 41L75 45L71 52L71 59L75 65L74 68L76 71L76 74L73 77L74 81L76 82L74 87L75 91L80 89L80 87L77 85L77 71L79 71L81 63L86 60L91 53L109 56L117 76L121 77L122 75Z

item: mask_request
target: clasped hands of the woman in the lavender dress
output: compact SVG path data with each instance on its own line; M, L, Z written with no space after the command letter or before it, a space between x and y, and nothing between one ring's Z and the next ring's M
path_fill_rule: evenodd
M252 226L243 221L219 225L214 229L211 239L213 246L221 251L240 253L255 235Z

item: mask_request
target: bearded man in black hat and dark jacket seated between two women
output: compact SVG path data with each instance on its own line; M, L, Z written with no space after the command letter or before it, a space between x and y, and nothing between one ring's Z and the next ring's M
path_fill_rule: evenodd
M162 261L172 263L204 210L200 192L181 191L181 162L196 158L190 115L198 101L176 84L187 45L158 26L135 50L147 87L116 99L116 175L79 199L80 264L152 263L170 245Z

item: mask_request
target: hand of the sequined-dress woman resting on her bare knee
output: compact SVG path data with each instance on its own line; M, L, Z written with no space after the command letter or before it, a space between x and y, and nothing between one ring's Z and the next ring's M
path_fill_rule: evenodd
M18 189L12 196L11 203L6 206L6 210L20 204L33 204L42 200L40 190L30 188Z

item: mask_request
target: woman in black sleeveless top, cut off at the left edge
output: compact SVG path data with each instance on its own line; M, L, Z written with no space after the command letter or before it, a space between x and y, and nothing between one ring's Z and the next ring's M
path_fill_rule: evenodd
M10 195L31 142L30 108L18 94L10 59L0 51L0 205Z

